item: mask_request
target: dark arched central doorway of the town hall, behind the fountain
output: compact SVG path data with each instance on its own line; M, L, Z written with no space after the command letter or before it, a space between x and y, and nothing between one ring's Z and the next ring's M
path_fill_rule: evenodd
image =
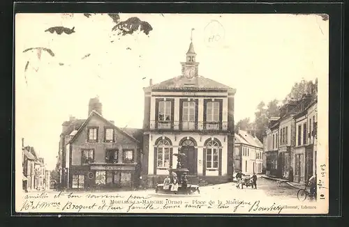
M198 159L198 149L196 141L194 139L182 139L179 143L179 152L184 153L186 157L184 158L183 168L188 169L189 175L197 174L197 159Z

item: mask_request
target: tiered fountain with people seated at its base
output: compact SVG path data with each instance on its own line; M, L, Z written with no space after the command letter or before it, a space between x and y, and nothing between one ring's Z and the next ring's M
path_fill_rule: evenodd
M200 194L198 185L188 184L186 175L189 170L183 168L183 159L186 157L184 153L174 154L177 156L177 168L169 168L170 178L166 178L162 184L157 184L155 192L161 194Z

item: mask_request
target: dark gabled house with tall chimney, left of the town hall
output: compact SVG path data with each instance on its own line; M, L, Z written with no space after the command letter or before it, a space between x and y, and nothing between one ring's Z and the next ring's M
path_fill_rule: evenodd
M65 130L61 136L61 139L64 136L61 169L66 173L64 186L68 189L138 186L141 141L133 135L141 138L142 130L121 130L103 118L101 107L98 98L91 99L88 118L80 127L73 127L71 132ZM77 125L81 121L75 119Z

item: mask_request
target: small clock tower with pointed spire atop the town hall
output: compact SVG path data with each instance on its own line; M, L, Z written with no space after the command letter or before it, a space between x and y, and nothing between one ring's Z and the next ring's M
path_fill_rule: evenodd
M193 30L191 29L191 44L186 52L186 62L181 62L181 74L188 78L198 77L198 65L193 45Z

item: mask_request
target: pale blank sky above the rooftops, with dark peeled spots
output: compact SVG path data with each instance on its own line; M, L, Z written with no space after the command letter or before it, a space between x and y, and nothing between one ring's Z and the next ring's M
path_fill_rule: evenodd
M138 17L153 30L118 36L106 14L16 15L15 145L21 148L24 138L47 169L57 161L61 124L70 115L87 118L91 97L100 97L103 116L115 125L141 128L142 88L149 79L156 84L181 75L192 29L199 75L237 89L235 121L253 120L260 101L283 100L297 81L318 77L320 84L328 77L329 20L317 15L120 17ZM74 27L75 33L45 32L52 26ZM31 47L50 48L54 56L23 52Z

